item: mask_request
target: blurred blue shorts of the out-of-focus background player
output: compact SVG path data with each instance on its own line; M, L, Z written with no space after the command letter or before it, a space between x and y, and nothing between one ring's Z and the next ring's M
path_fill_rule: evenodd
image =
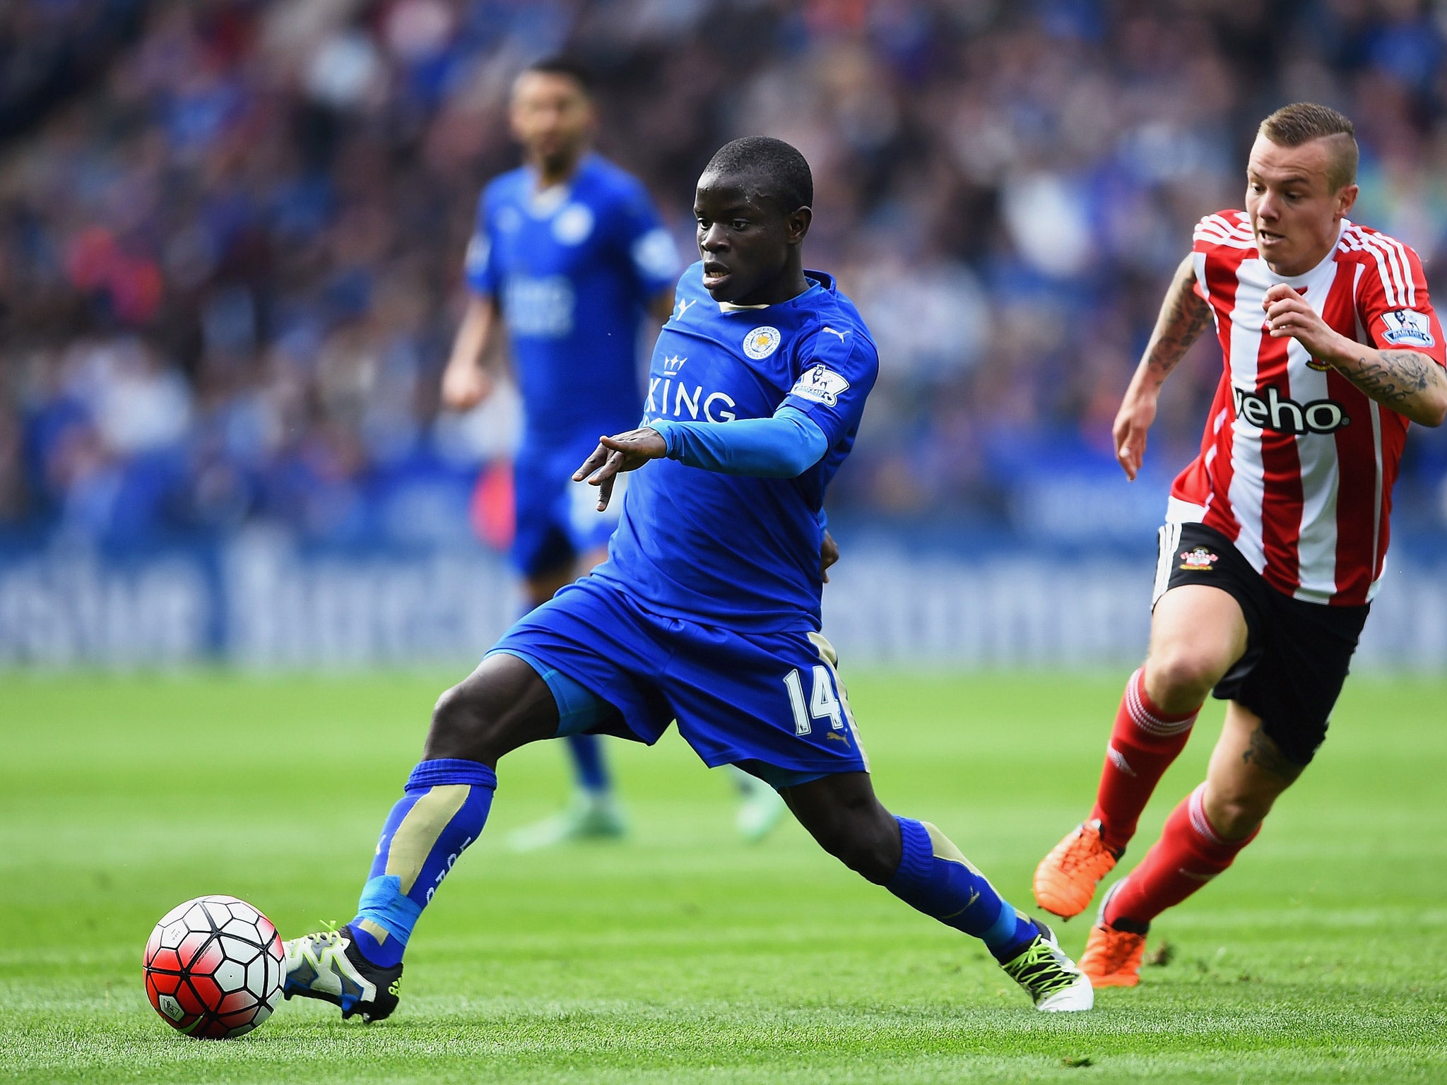
M596 438L550 450L524 448L512 467L517 531L512 563L522 576L570 570L579 556L608 545L624 508L627 476L619 476L606 512L598 488L573 482L598 446Z

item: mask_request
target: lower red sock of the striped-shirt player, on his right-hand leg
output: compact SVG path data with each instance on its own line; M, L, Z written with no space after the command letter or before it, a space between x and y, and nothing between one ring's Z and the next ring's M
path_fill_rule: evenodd
M1160 839L1106 901L1106 923L1149 923L1230 867L1237 852L1256 839L1260 826L1240 841L1223 841L1205 816L1204 794L1201 784L1171 812Z

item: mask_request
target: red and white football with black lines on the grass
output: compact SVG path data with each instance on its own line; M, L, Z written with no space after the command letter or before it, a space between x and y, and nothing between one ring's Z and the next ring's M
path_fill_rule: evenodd
M177 1031L234 1039L271 1017L281 997L276 927L236 897L197 897L161 917L146 940L146 997Z

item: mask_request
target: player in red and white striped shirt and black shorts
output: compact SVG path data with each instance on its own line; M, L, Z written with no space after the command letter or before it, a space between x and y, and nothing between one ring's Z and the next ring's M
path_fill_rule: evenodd
M1181 752L1208 693L1227 700L1205 783L1101 901L1081 968L1133 987L1162 910L1231 865L1301 775L1382 576L1408 422L1447 414L1443 330L1417 253L1350 223L1351 122L1297 104L1262 122L1246 211L1201 220L1116 417L1132 479L1160 383L1205 326L1226 362L1201 454L1176 477L1145 665L1126 684L1090 817L1035 874L1058 916L1085 909Z

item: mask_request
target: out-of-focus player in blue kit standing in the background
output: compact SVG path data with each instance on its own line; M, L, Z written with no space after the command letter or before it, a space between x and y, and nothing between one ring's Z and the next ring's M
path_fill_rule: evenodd
M467 249L467 311L443 373L443 404L469 409L493 389L504 331L522 393L524 438L514 464L512 560L527 608L608 556L618 501L595 508L572 482L599 434L642 417L638 333L673 310L679 256L642 184L589 149L595 110L587 74L554 58L512 90L511 122L525 165L495 178L478 203ZM512 846L618 836L624 819L596 735L567 739L577 793L561 813L518 830ZM777 794L737 777L738 826L761 839L783 813Z

